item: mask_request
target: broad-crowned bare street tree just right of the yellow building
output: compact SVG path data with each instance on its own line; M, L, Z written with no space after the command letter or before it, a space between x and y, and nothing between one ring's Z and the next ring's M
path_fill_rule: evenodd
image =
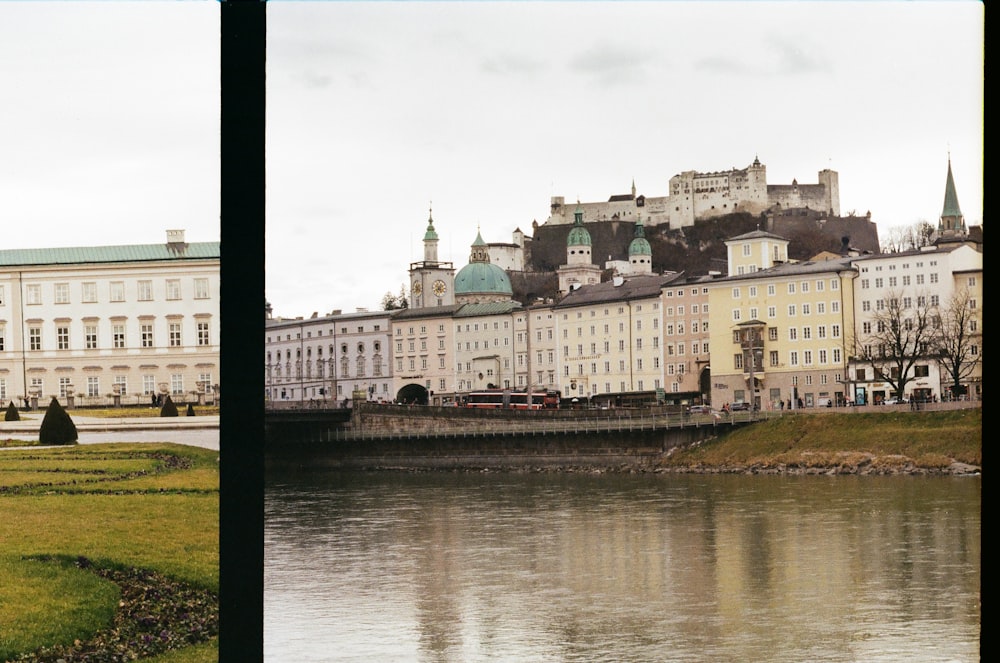
M930 305L926 295L894 290L876 305L875 315L862 323L855 351L871 365L875 378L888 382L893 395L901 398L916 377L914 366L938 345L937 307Z

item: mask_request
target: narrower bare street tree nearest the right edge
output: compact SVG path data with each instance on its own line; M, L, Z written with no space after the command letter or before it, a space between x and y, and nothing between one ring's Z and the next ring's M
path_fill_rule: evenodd
M951 383L951 393L965 393L962 381L982 365L983 334L979 329L979 312L968 289L956 292L942 307L935 321L940 333L935 344L935 354L942 372Z

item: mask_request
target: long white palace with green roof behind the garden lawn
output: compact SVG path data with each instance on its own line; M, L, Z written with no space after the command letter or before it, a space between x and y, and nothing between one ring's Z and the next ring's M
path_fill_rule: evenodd
M0 251L0 401L211 401L219 242Z

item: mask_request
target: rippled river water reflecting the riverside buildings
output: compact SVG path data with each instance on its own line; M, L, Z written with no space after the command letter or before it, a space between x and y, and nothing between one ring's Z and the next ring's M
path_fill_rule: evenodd
M979 661L981 486L272 472L265 660Z

